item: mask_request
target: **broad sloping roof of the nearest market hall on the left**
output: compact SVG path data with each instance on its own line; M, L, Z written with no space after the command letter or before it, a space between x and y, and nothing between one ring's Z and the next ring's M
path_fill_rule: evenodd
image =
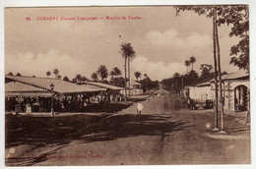
M23 84L30 84L35 87L39 87L46 90L51 90L50 84L54 84L53 91L59 93L81 93L81 92L95 92L106 90L102 87L95 87L92 85L78 85L69 82L51 79L51 78L32 78L32 77L16 77L16 76L5 76L5 78L20 82Z

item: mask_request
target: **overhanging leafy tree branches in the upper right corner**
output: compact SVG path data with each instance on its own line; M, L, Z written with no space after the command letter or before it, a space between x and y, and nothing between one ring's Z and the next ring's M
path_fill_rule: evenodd
M197 5L175 6L176 15L181 11L193 11L198 15L206 15L208 18L217 12L217 25L231 26L229 36L238 36L241 40L230 48L230 64L249 72L249 8L248 5Z

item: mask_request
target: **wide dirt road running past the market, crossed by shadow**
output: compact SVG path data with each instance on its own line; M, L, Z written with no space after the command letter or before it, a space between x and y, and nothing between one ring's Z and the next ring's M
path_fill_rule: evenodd
M43 159L32 165L250 163L249 130L231 132L246 126L227 117L226 127L230 132L219 137L208 129L214 124L213 110L166 108L174 100L175 97L165 96L151 98L143 102L140 116L134 104L96 123L89 135L67 144L34 149L33 154L45 153Z

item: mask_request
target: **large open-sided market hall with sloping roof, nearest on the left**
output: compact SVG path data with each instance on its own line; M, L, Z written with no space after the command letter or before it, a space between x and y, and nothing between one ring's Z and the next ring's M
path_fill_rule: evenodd
M83 111L106 88L78 85L51 78L5 76L6 111Z

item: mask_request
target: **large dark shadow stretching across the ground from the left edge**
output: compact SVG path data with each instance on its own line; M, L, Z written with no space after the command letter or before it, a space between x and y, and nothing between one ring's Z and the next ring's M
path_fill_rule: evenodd
M7 159L6 165L33 165L44 161L70 141L88 143L136 136L160 136L189 127L166 115L115 115L107 118L75 115L66 117L6 117L6 147L21 144L48 147L38 156ZM54 144L54 146L52 146ZM55 148L50 148L55 147Z

